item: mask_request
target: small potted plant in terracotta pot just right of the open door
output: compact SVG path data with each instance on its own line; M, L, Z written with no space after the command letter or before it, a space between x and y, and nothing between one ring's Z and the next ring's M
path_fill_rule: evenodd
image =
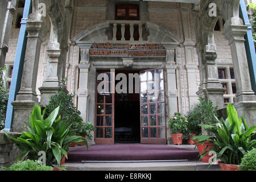
M182 144L183 134L187 131L187 123L187 118L180 113L175 113L174 117L169 119L169 128L174 144Z

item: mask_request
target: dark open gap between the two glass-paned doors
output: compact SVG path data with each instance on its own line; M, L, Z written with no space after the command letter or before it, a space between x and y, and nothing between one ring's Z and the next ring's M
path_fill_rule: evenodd
M126 72L127 77L129 73L139 72ZM116 82L115 84L117 84ZM127 83L128 84L128 83ZM128 86L128 85L127 85ZM127 87L128 88L128 87ZM135 88L135 82L134 86ZM114 121L114 141L115 143L139 143L141 139L140 133L140 113L139 113L139 93L115 93L115 121Z

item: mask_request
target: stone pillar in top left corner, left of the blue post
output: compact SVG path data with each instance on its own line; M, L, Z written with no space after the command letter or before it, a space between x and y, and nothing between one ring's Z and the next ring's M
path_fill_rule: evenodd
M5 66L6 53L8 52L11 25L15 13L16 1L2 0L0 2L0 67ZM1 78L0 78L1 80Z

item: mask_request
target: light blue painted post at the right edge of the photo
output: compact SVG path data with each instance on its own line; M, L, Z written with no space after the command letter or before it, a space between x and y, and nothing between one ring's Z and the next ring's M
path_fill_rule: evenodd
M240 0L240 15L245 23L247 28L247 34L245 35L245 49L247 55L247 61L249 66L249 72L251 77L251 88L253 89L254 93L256 94L256 55L255 55L255 47L253 42L253 33L251 24L248 18L245 1Z

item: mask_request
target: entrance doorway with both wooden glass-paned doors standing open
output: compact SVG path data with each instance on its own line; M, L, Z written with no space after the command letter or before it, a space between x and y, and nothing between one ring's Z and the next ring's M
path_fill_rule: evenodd
M126 77L121 76L121 80L118 80L118 73L125 74ZM129 77L129 73L135 75L134 90L124 93L122 90L126 90L128 85L126 89L119 86L125 86L122 78ZM122 84L117 85L120 82ZM116 92L115 87L121 91ZM110 92L111 89L115 92ZM140 72L123 70L114 73L97 72L95 143L166 144L165 100L163 68Z

